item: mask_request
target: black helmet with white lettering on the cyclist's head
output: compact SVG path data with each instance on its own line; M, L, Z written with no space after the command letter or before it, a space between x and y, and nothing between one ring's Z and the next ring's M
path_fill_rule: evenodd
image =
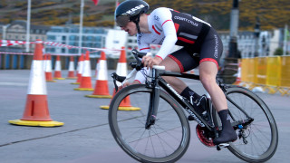
M130 21L138 25L140 14L147 13L148 10L149 5L145 1L126 0L116 8L115 21L119 26L125 26Z

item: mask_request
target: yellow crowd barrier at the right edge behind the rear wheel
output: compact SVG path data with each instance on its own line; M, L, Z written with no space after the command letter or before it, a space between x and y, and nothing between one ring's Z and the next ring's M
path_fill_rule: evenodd
M290 95L290 56L243 58L241 62L243 86Z

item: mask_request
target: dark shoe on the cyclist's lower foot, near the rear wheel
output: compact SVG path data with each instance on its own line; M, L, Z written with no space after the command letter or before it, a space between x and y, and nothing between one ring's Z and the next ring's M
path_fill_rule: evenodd
M237 133L234 129L225 131L222 130L221 133L218 135L218 138L213 140L213 143L215 145L218 145L221 143L227 143L235 140L237 140Z

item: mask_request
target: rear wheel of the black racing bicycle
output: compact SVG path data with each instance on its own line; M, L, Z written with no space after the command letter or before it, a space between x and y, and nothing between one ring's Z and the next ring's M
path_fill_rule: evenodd
M266 103L243 87L230 86L226 95L231 122L238 136L227 149L247 162L265 162L272 158L278 145L278 131ZM214 121L220 129L218 114L214 113Z

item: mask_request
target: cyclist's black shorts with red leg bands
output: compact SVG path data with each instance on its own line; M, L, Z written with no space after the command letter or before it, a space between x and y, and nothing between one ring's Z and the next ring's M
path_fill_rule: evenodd
M182 47L169 54L169 57L179 64L180 72L188 72L198 67L200 62L218 62L223 53L223 43L215 29L210 28L201 47Z

